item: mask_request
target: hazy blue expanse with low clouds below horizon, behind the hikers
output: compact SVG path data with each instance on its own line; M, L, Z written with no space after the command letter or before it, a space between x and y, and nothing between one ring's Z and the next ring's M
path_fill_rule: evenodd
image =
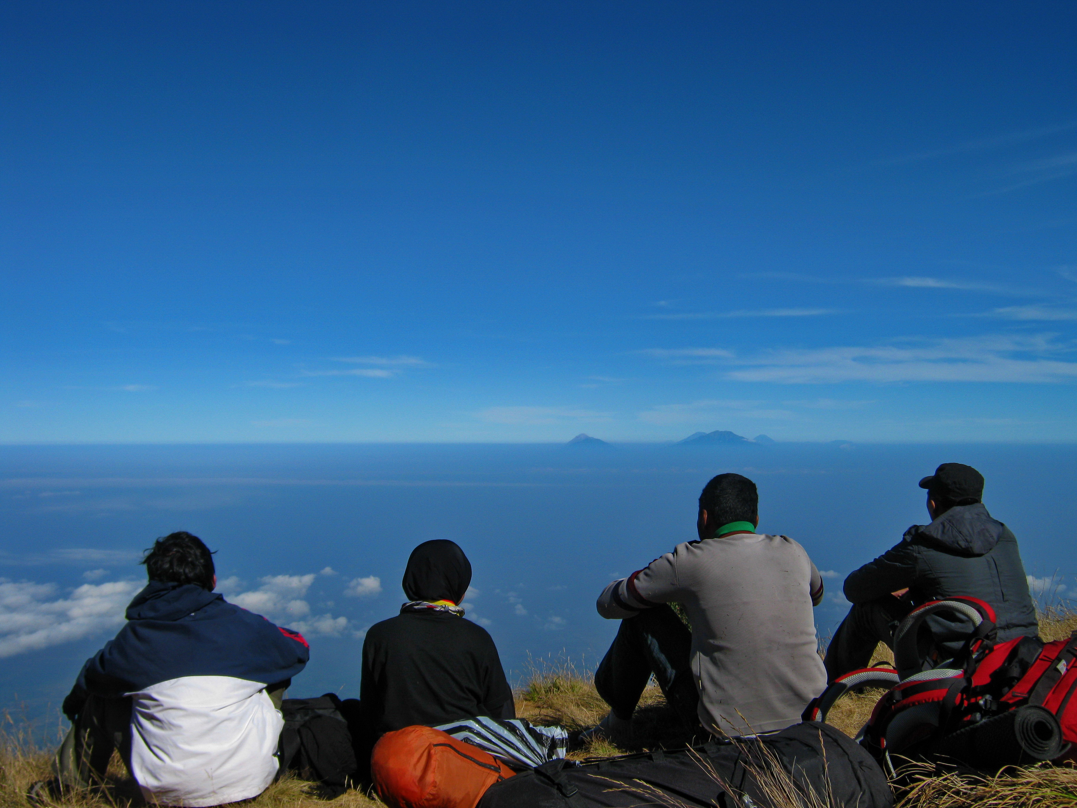
M597 614L598 594L694 540L699 490L725 471L758 485L760 531L793 537L824 573L826 637L848 609L844 575L926 523L917 483L949 461L983 472L984 501L1017 534L1037 594L1077 596L1077 454L1066 446L2 447L4 705L41 715L59 702L144 585L142 551L173 530L218 551L229 601L307 635L294 696L358 695L365 630L404 602L407 555L429 538L471 558L467 618L494 637L514 682L541 659L593 668L616 630Z

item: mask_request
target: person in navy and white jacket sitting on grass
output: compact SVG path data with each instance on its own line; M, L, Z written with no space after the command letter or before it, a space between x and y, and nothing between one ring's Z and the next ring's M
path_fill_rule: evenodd
M57 780L30 797L100 783L113 750L150 803L223 805L277 776L280 701L306 666L307 641L214 594L209 548L170 533L142 559L150 582L127 625L90 657L67 698L71 730Z

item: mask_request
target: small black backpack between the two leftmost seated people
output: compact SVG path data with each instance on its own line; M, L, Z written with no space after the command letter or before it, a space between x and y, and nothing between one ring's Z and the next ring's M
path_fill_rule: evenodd
M285 698L280 711L280 769L295 771L302 780L318 783L325 799L340 796L353 785L358 766L348 723L340 715L340 699L326 693L318 698Z

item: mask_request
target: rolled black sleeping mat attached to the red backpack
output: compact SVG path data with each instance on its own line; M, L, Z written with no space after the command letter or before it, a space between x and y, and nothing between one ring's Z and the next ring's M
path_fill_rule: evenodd
M1051 761L1062 754L1064 747L1062 727L1054 714L1025 705L959 729L932 744L931 754L978 768L997 768Z

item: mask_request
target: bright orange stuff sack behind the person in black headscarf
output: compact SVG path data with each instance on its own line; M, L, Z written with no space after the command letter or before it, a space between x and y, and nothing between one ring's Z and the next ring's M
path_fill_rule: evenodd
M475 808L486 790L515 771L440 729L386 733L370 755L381 800L394 808Z

